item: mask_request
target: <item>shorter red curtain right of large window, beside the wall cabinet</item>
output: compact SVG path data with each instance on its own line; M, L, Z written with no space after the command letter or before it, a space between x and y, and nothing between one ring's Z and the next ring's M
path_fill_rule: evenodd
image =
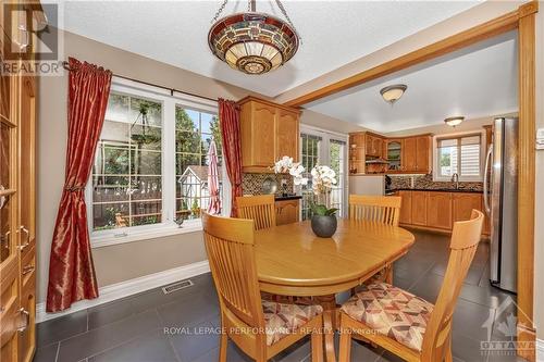
M232 186L231 216L236 217L236 197L243 194L239 107L233 101L219 99L219 122L223 137L226 173Z

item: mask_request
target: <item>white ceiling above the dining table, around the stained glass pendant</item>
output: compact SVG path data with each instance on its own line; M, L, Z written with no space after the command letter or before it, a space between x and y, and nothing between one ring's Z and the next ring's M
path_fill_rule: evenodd
M215 59L207 35L222 0L64 1L64 29L270 97L478 4L478 1L284 1L302 37L298 53L262 76ZM231 0L223 14L247 9ZM270 1L258 11L281 16Z

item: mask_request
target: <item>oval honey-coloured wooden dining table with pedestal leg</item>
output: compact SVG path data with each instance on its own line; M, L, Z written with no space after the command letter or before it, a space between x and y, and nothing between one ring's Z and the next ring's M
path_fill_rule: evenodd
M255 233L257 273L262 291L314 297L323 307L326 361L336 361L335 295L349 290L408 252L408 230L366 221L338 220L332 238L319 238L310 222Z

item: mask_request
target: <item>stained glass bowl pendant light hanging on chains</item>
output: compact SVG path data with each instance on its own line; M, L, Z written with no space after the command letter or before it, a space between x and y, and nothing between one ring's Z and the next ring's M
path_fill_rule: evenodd
M264 74L295 55L300 38L280 0L275 2L287 22L258 13L255 0L249 0L247 12L218 20L227 1L221 4L208 33L210 49L219 59L246 74Z

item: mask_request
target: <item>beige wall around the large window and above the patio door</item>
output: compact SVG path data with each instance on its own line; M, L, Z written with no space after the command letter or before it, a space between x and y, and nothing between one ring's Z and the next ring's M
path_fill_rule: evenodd
M115 74L164 85L193 93L240 99L247 95L264 98L246 89L181 70L151 59L113 48L71 33L64 33L65 57L96 63ZM57 210L64 183L66 147L67 77L42 77L39 85L38 145L38 302L46 298L49 253ZM306 112L305 112L306 113ZM305 123L338 129L342 121L310 112ZM316 121L313 121L316 118ZM332 124L332 121L336 122ZM342 124L339 127L348 127ZM98 283L111 285L206 259L200 232L121 244L92 249Z

